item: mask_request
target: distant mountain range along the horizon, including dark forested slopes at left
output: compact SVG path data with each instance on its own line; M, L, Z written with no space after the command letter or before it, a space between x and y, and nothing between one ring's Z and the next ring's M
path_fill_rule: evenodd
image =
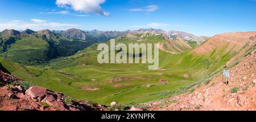
M181 38L192 47L199 45L196 43L196 38L193 41L187 40L196 37L193 34L175 31L170 36L168 33L162 29L152 28L125 32L81 31L75 28L67 31L44 29L38 32L31 29L22 32L6 29L0 33L0 53L3 57L22 64L40 64L61 56L71 56L94 43L106 42L112 38L122 38L122 40L125 37L129 40L155 40L155 38L159 38L159 40L164 40L163 37L167 35L172 38ZM194 43L191 44L191 42Z

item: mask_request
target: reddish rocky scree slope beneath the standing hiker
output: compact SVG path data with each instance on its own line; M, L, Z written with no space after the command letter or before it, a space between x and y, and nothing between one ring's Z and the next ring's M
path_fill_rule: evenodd
M256 50L229 69L229 85L222 83L222 75L212 81L193 86L190 93L145 103L148 110L256 110Z

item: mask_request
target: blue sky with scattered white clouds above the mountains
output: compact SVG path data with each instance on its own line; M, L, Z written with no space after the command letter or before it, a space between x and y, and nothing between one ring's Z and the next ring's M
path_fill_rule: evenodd
M0 31L156 28L213 36L256 31L256 0L1 0Z

